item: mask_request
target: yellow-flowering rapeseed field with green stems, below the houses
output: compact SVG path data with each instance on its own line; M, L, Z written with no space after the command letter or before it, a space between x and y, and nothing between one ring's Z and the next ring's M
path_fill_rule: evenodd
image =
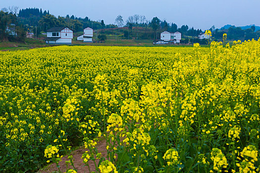
M79 145L86 171L260 172L260 40L55 46L0 52L0 64L0 172L68 155L76 173Z

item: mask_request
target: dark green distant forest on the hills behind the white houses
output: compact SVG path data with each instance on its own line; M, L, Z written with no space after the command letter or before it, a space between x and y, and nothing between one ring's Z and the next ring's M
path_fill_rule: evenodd
M13 7L14 9L14 7ZM17 10L17 8L16 8ZM142 15L133 15L128 16L124 21L121 15L118 15L115 19L114 24L105 24L104 20L93 21L89 17L76 17L74 15L69 16L68 14L64 17L58 16L55 17L52 15L49 10L42 10L39 8L25 8L18 10L12 10L12 8L2 8L0 11L0 40L6 40L9 36L5 32L5 28L9 25L15 24L18 26L18 29L24 29L24 31L32 31L37 35L41 32L46 32L52 27L66 26L73 29L73 32L82 32L84 28L91 27L94 30L106 29L106 28L117 28L117 27L127 27L128 30L133 30L134 27L143 27L145 31L147 28L153 30L153 33L144 33L139 39L155 39L155 35L159 32L169 31L169 32L181 32L182 40L186 43L191 39L194 42L199 42L197 36L203 31L201 29L190 28L188 25L182 25L178 27L175 23L168 23L165 20L160 20L157 17L154 17L152 20L148 20L145 16ZM11 27L11 26L9 26ZM221 29L215 29L214 26L209 28L212 32L212 38L216 41L221 41L224 33L227 33L228 40L258 40L260 38L260 31L256 31L256 27L250 26L250 28L240 28L235 26L226 25ZM135 31L136 32L136 31ZM19 32L20 36L23 35L22 31ZM17 33L18 35L18 33ZM22 37L22 36L21 36ZM21 39L21 38L20 38Z

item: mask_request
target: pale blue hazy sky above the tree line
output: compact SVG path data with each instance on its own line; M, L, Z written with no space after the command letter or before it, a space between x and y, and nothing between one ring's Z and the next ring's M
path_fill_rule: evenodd
M152 20L157 16L178 27L209 29L226 24L260 26L260 0L0 0L0 9L8 6L37 7L60 16L88 16L91 20L114 23L120 14L124 21L134 14Z

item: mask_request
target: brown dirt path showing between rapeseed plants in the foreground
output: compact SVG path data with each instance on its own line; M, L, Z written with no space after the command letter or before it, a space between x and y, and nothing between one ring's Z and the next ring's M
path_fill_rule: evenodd
M97 144L97 149L99 153L102 153L104 157L106 157L106 143L105 139L101 139ZM74 158L74 166L77 169L78 173L89 173L88 167L84 166L84 163L82 163L82 154L85 153L85 151L89 151L88 149L85 149L84 146L80 147L79 149L72 152L73 158ZM65 161L68 161L67 156L64 156L61 161L59 162L59 169L62 173L66 172L66 163ZM96 161L96 164L98 165L99 160ZM96 171L95 163L94 161L89 161L89 167L90 171ZM73 169L72 166L69 166L69 169ZM56 164L52 164L44 168L43 170L38 171L38 173L58 173L58 168L56 167Z

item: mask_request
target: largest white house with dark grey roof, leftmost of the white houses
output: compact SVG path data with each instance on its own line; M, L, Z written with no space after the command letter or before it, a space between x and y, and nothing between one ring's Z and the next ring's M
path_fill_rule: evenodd
M44 40L48 44L71 44L73 31L68 27L53 27L47 30L47 38Z

